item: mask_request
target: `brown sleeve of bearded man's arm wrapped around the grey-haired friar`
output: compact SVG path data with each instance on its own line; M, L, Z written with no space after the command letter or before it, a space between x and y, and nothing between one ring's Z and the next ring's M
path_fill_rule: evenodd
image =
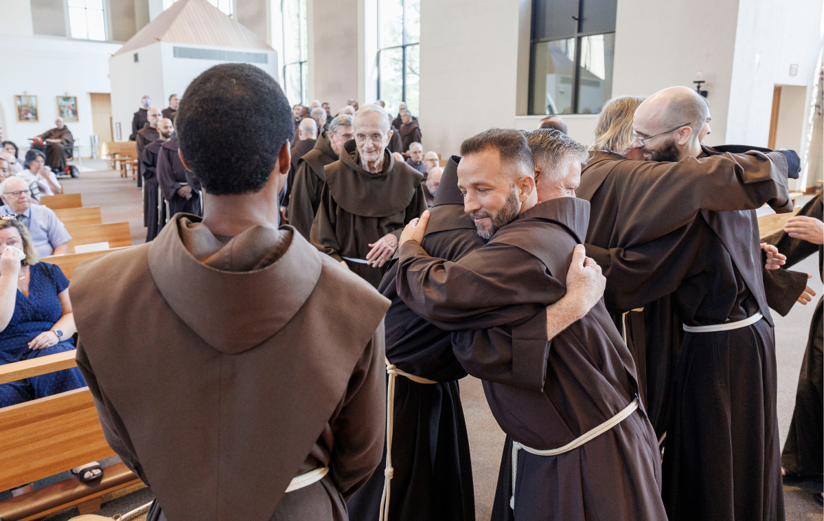
M566 293L536 257L500 243L452 262L407 241L400 246L396 284L406 305L444 331L514 325Z

